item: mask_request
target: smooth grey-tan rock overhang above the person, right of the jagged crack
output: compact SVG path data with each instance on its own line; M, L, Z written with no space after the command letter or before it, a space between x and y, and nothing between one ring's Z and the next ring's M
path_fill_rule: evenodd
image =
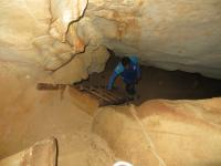
M91 0L85 15L118 55L137 54L147 65L221 77L219 0Z

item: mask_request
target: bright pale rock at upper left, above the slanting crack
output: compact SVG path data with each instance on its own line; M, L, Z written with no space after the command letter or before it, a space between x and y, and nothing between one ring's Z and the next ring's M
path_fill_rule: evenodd
M70 24L82 18L86 4L87 0L0 2L4 15L0 18L0 58L29 61L49 71L64 65L85 49Z

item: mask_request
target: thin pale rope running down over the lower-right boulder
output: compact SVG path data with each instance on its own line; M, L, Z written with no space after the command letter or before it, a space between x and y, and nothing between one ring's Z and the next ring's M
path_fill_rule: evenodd
M141 121L139 120L139 117L137 116L136 110L134 105L130 105L129 111L131 113L131 115L135 117L135 120L137 121L137 123L139 124L141 132L145 136L145 139L148 144L148 148L150 149L150 152L152 153L152 155L157 158L157 160L159 162L159 166L166 166L164 159L157 154L156 152L156 147L149 136L149 134L146 132L144 124L141 123Z

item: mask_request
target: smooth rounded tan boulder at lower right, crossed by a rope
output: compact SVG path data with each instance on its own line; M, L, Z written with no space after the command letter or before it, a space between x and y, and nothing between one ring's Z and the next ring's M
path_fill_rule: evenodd
M220 102L150 101L136 111L101 108L93 129L134 165L220 165Z

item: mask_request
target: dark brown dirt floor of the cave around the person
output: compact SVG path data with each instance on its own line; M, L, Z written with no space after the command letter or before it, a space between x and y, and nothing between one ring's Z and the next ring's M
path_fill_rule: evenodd
M102 73L93 73L82 84L106 87L113 70L120 61L112 55ZM209 79L199 73L166 71L141 65L141 80L136 85L137 96L131 103L139 105L148 100L199 100L221 96L221 80ZM115 91L125 93L120 76L115 81Z

